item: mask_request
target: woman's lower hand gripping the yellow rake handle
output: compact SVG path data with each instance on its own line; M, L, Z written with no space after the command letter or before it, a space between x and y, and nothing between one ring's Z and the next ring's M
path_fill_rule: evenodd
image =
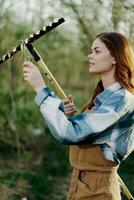
M71 117L77 112L77 108L73 103L73 98L71 95L64 100L64 112L67 117Z

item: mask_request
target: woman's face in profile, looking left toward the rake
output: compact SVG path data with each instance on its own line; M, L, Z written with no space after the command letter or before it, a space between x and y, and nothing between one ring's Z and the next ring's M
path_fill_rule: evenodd
M114 57L111 56L110 51L99 38L94 40L88 58L90 62L89 72L95 74L110 72L115 64Z

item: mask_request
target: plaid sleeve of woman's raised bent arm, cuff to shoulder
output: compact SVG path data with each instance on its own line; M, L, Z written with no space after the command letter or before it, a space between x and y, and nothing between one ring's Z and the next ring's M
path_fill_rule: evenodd
M54 92L43 89L35 101L52 135L61 143L75 144L90 139L116 123L125 114L122 96L113 96L103 102L94 112L84 112L67 118L63 101Z

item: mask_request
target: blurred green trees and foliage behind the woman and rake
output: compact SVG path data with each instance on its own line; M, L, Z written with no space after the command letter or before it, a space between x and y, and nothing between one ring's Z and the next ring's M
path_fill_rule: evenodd
M131 0L0 0L0 57L30 33L65 23L34 46L78 110L91 99L98 76L88 72L88 53L96 34L119 31L134 46L134 1ZM0 200L65 200L72 168L68 146L50 134L24 82L21 51L0 65ZM118 170L134 195L134 154ZM123 197L123 199L126 199Z

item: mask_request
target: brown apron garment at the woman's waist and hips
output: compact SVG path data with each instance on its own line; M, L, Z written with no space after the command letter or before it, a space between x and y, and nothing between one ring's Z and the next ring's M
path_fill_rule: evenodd
M119 165L107 160L99 145L71 145L73 167L67 200L121 200Z

